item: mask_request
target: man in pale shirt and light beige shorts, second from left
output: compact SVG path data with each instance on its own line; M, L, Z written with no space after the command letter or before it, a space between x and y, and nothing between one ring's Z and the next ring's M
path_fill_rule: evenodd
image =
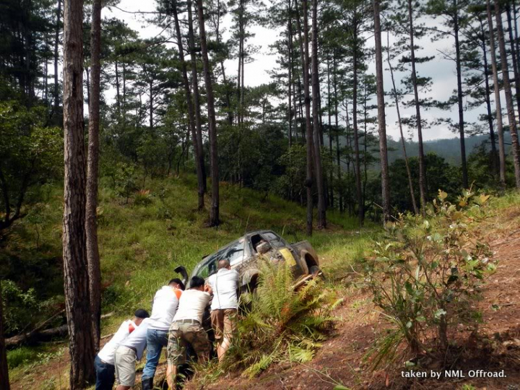
M135 362L141 360L146 348L146 332L150 319L141 321L141 325L116 349L116 390L128 390L135 384Z

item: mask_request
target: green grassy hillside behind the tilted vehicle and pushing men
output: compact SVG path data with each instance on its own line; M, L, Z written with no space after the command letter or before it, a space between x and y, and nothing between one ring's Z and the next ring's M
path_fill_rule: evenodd
M33 310L34 323L63 306L62 188L49 186L45 192L44 203L12 228L0 254L6 260L1 262L6 278L15 280L24 293L35 290L35 305L27 307ZM190 271L204 255L245 231L270 228L291 242L309 239L325 264L324 271L335 273L343 268L346 253L352 258L363 253L375 229L365 228L360 234L355 219L329 213L329 228L306 237L305 210L299 205L226 183L221 185L220 198L223 223L207 228L207 212L196 210L193 176L148 181L128 203L108 181L102 181L98 235L103 313L114 312L103 320L103 334L112 332L137 307L150 310L155 291L176 276L175 266L182 264ZM56 319L54 325L59 321L63 319ZM66 355L60 349L64 345L10 351L12 378L29 383L31 367L57 353Z

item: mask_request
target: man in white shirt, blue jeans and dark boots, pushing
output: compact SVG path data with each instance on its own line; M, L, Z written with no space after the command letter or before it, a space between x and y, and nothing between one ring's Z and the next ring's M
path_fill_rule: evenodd
M141 377L142 390L153 389L153 377L159 364L162 347L168 345L168 330L177 312L179 298L184 290L180 279L174 278L155 293L152 315L146 334L146 365Z

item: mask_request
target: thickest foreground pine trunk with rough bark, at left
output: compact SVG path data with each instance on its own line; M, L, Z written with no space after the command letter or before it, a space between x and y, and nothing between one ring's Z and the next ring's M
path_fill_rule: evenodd
M64 1L63 38L64 211L63 268L71 370L69 387L94 380L94 337L89 303L85 234L85 132L83 119L83 1Z

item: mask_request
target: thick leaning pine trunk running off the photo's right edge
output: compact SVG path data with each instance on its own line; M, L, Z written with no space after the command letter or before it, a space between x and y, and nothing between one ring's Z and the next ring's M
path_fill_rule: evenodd
M517 121L514 117L513 96L511 93L511 82L509 80L508 56L505 51L504 31L502 27L502 13L499 0L494 0L496 33L499 35L500 61L502 62L502 79L504 84L505 104L508 107L509 129L511 133L511 149L513 153L514 178L517 189L520 189L520 146L518 142Z

